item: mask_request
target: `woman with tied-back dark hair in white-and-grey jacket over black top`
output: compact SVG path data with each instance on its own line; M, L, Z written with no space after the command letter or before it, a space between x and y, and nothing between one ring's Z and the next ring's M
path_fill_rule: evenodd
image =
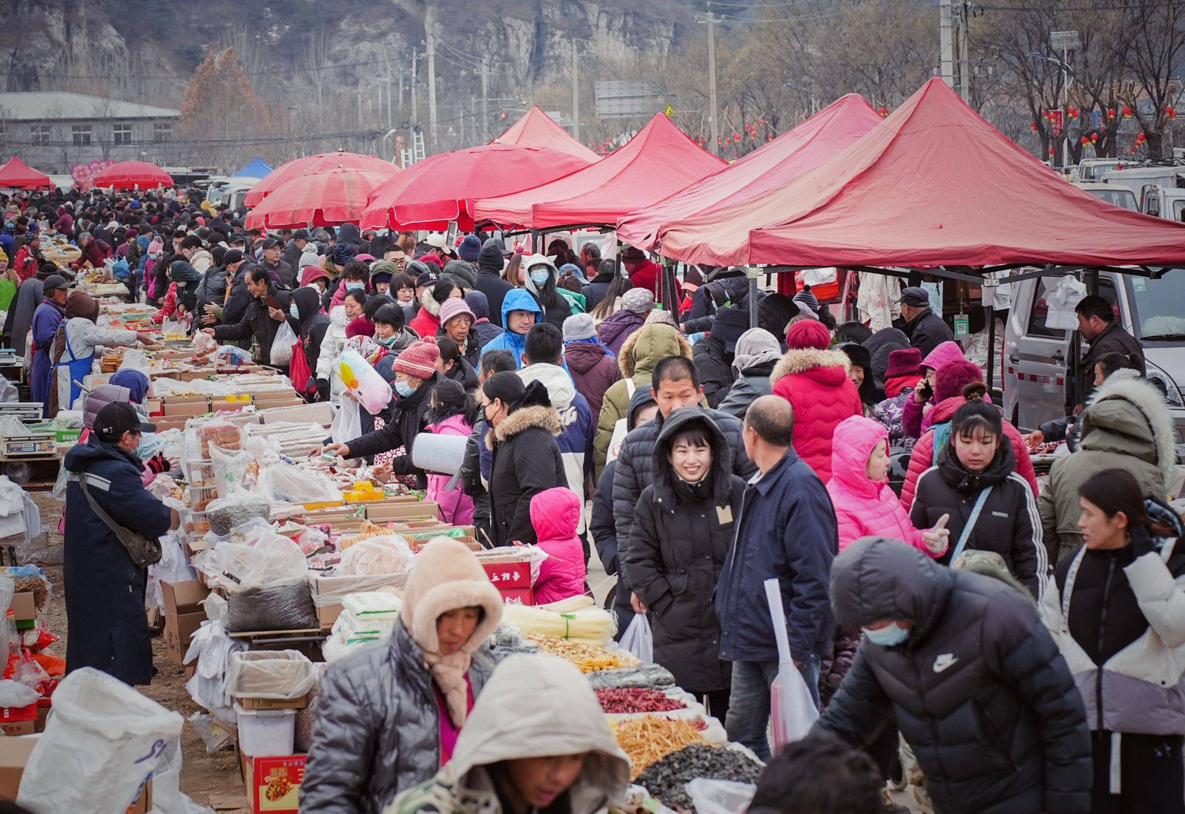
M1078 489L1083 545L1042 610L1087 703L1091 812L1185 812L1185 524L1122 469Z

